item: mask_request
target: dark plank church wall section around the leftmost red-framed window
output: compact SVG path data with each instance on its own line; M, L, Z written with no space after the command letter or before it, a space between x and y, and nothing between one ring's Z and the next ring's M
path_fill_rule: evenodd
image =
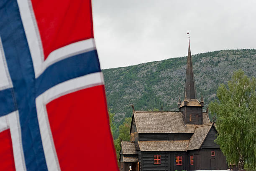
M161 155L161 164L154 164L154 155ZM142 171L168 171L168 152L142 151Z

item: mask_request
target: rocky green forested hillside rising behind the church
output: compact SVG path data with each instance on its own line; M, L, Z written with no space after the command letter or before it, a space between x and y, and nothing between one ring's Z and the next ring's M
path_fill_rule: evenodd
M256 49L220 50L192 55L197 97L204 97L206 110L216 99L220 83L227 83L234 70L256 75ZM179 94L184 97L187 56L122 68L102 70L108 107L115 113L114 124L123 123L135 110L178 111ZM118 133L114 133L114 138Z

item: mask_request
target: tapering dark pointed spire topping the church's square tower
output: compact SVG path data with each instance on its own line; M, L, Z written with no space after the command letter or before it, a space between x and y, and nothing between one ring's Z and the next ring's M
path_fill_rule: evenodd
M189 49L187 54L187 73L186 73L186 80L185 80L185 88L184 88L184 97L185 94L187 95L187 99L197 99L197 92L195 88L195 79L194 79L194 72L192 66L192 58L191 58L191 51L190 51L190 41L189 41Z

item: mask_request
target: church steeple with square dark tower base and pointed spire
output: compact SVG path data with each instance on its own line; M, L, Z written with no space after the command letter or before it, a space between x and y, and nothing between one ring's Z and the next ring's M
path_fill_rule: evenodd
M197 92L195 87L194 71L192 65L192 57L190 51L190 40L187 54L187 72L184 87L184 101L179 105L179 111L184 114L184 121L186 124L202 124L202 107L204 101L201 103L197 100Z

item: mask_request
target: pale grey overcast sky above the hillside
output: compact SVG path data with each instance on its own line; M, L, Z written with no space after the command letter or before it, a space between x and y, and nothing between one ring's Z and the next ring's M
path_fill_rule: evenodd
M256 0L92 0L102 69L256 48Z

